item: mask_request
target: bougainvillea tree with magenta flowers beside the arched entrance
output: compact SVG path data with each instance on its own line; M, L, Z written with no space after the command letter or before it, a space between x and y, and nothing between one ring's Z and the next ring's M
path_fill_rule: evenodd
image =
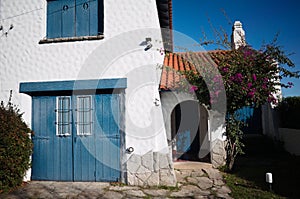
M221 84L223 84L227 100L225 132L227 167L231 170L235 157L243 152L244 146L241 142L243 123L238 121L236 111L245 106L259 107L265 103L277 104L276 93L279 92L280 86L289 88L292 85L291 82L283 84L280 80L283 77L299 78L299 71L289 70L295 65L276 44L276 39L260 50L244 46L217 56L220 60L218 63L220 74L203 70L205 65L201 65L200 62L196 67L199 69L197 72L181 73L188 80L188 84L184 85L181 82L180 85L183 85L186 92L191 92L191 90L195 92L199 103L213 108L214 103L217 104L218 100L223 100L219 98L222 92Z

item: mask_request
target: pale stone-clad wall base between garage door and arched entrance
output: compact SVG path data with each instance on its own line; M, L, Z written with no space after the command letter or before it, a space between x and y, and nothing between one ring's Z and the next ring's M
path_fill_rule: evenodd
M150 151L132 154L127 161L127 184L137 186L175 186L176 177L170 154Z

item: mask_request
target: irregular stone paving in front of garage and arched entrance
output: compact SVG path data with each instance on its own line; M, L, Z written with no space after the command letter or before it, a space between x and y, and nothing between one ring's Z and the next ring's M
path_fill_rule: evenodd
M210 164L178 162L177 187L141 188L103 182L31 181L0 198L231 198L222 174Z

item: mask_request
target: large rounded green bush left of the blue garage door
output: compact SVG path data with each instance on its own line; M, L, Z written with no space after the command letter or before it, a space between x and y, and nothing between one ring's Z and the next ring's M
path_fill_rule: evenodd
M11 103L11 97L0 104L0 193L22 184L30 167L31 130L22 120L22 113Z

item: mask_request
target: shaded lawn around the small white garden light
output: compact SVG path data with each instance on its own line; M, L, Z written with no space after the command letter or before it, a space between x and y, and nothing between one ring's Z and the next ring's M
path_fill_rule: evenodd
M244 143L245 154L224 174L234 198L300 198L300 157L264 136L245 137ZM267 172L273 174L273 192L265 182Z

